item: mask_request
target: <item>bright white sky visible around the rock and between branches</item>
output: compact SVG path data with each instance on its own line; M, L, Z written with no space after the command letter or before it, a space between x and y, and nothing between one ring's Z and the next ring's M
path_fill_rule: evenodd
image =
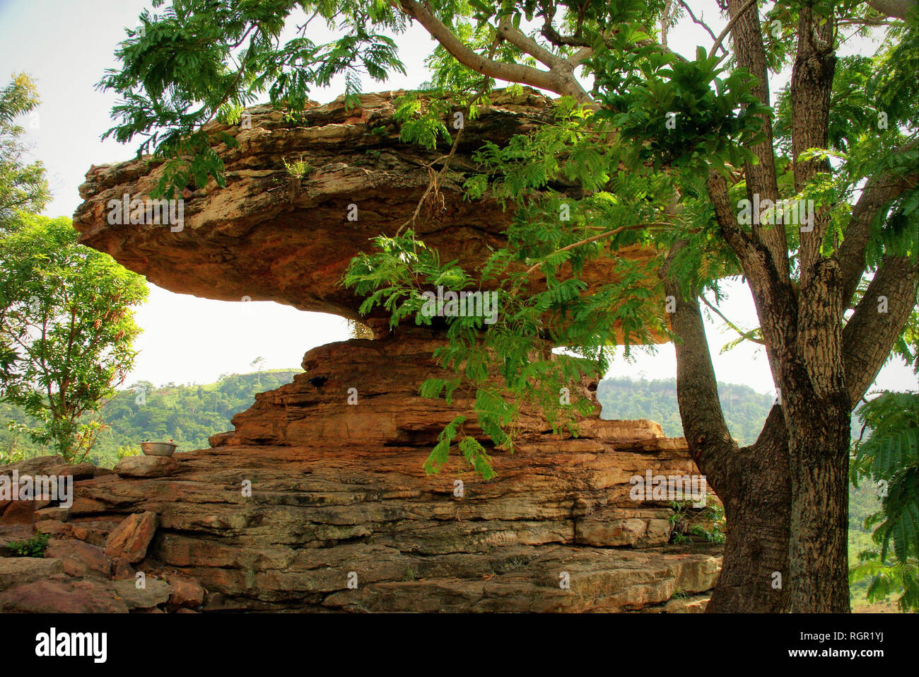
M38 120L23 120L32 155L48 167L53 200L45 213L72 216L81 202L78 186L89 166L129 159L134 145L99 141L112 126L109 111L115 96L96 91L105 69L116 68L113 52L125 37L125 27L136 27L137 17L149 2L144 0L0 0L0 79L25 71L38 83L42 104ZM725 21L713 0L692 3L697 17L720 32ZM153 13L155 9L151 9ZM302 23L300 17L299 23ZM315 30L314 30L315 29ZM310 27L313 40L322 37L317 22ZM424 58L434 42L415 26L397 38L407 75L387 83L365 80L365 91L416 87L428 79ZM672 29L668 42L686 55L696 44L707 47L711 39L684 19ZM846 52L870 49L864 41L850 41ZM777 91L783 82L771 83ZM327 102L341 94L343 83L314 91L312 98ZM296 368L303 352L347 338L345 321L337 316L305 313L273 303L228 303L166 292L150 285L150 298L137 312L144 333L141 350L127 383L210 383L221 373L253 371L256 357L265 368ZM744 328L757 322L753 301L744 285L729 284L722 312ZM722 324L708 324L709 344L720 381L747 384L762 393L774 393L766 355L754 346L738 347L719 355L732 332ZM672 378L676 373L673 346L659 346L654 355L640 355L632 364L618 361L609 375ZM902 362L891 363L879 374L878 388L915 389L916 379Z

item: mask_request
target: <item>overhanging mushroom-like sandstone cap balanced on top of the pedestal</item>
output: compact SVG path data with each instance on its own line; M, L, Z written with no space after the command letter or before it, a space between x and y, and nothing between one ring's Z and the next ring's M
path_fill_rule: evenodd
M239 147L218 143L226 187L213 180L187 191L182 230L153 224L109 224L109 201L146 200L164 166L149 157L93 166L80 187L85 202L74 214L81 242L107 252L130 270L178 293L224 301L270 300L301 310L358 318L358 299L338 284L351 258L369 239L395 235L412 214L447 147L432 151L399 140L394 101L404 92L369 94L356 109L342 98L311 104L302 120L258 106L244 118L249 129L217 122L206 129L227 133ZM493 200L463 198L461 172L485 141L505 143L551 119L551 102L530 89L496 92L465 126L451 168L440 186L441 203L426 207L414 229L441 260L459 259L474 270L504 242L512 213ZM288 164L306 163L292 177ZM194 187L190 187L194 188ZM348 219L350 205L357 220ZM354 212L350 212L352 216ZM648 260L630 247L619 258ZM616 274L617 258L590 264L586 279L602 284ZM539 273L535 273L539 275ZM592 287L593 288L593 287ZM589 291L589 290L588 290Z

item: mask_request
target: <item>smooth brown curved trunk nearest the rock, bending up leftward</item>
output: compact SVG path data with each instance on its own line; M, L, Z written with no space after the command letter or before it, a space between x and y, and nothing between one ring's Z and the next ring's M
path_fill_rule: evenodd
M727 534L721 573L707 611L788 611L790 480L788 436L773 407L754 445L737 448L721 412L705 325L695 296L683 298L670 266L685 242L671 247L661 271L673 296L676 396L689 453L724 504ZM781 577L781 578L778 578Z

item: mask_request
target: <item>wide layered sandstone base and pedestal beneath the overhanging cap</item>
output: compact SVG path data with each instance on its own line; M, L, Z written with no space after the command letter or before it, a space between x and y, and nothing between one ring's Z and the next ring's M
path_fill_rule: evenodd
M493 481L455 456L425 476L439 426L469 404L460 397L451 410L417 396L416 384L437 373L436 338L398 330L311 350L308 371L257 396L216 446L176 453L175 475L81 480L55 519L69 538L98 545L94 557L105 547L123 560L141 548L115 545L149 540L145 557L127 557L134 569L191 581L190 590L116 594L132 611L152 602L204 611L703 609L717 548L668 545L667 501L630 498L630 478L647 470L695 473L685 441L650 421L599 419L562 437L530 416L514 453L492 452ZM317 375L327 379L318 387L309 383ZM40 528L52 522L43 518ZM111 568L109 579L131 578L114 559ZM102 578L98 568L71 569L76 580ZM196 585L207 591L200 602ZM49 591L58 588L73 606L74 591ZM0 594L0 606L30 599Z

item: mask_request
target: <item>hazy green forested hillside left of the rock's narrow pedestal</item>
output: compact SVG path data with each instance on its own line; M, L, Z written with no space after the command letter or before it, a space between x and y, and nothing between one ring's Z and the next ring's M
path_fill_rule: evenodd
M215 384L165 384L154 387L146 381L119 390L101 407L103 424L96 444L87 459L103 466L115 465L119 458L140 453L144 440L173 440L179 451L208 448L208 438L233 430L230 419L251 407L255 394L277 388L293 380L300 370L269 370L260 373L227 374ZM30 421L19 407L0 403L0 463L53 453L40 442L22 433Z

